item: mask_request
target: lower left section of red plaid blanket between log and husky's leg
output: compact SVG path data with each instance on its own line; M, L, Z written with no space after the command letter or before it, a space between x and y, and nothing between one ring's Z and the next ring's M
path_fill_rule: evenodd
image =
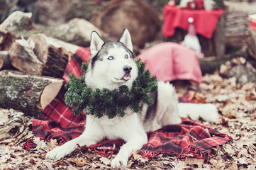
M60 145L72 140L84 131L85 115L75 116L64 102L65 89L62 87L55 99L45 107L40 117L34 119L32 132L40 140L57 139Z

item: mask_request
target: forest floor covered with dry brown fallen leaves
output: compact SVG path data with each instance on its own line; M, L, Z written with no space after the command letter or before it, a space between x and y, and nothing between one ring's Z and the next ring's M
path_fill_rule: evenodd
M235 77L224 79L218 72L204 75L200 86L177 86L178 96L189 94L194 100L214 103L220 118L217 123L201 123L233 137L232 142L212 148L208 164L203 159L159 154L152 160L133 153L126 169L256 169L256 85L252 82L237 83ZM28 118L26 132L16 138L0 141L0 169L110 169L115 155L101 157L88 147L80 147L60 161L45 159L45 154L57 142L44 142L30 131L33 118ZM28 140L35 149L23 149Z

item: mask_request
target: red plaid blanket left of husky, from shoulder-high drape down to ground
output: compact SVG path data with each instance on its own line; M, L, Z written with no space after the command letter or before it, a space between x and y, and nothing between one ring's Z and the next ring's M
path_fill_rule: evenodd
M80 47L72 59L67 63L63 79L65 83L69 80L69 73L80 77L83 74L81 69L82 62L88 62L91 53L89 48ZM59 94L52 102L45 107L38 119L32 123L32 131L41 140L57 139L62 145L72 140L84 131L85 115L75 116L72 109L65 105L65 88L62 86Z

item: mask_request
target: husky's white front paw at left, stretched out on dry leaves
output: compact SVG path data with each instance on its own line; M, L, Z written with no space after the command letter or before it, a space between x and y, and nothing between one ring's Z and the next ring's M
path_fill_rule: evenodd
M67 154L70 154L73 150L66 147L56 147L55 149L48 152L45 156L46 159L59 160L65 157Z

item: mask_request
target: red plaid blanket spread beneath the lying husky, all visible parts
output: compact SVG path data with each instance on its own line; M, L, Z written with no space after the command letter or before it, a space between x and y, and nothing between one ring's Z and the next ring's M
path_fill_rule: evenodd
M63 78L68 81L68 74L79 77L82 74L80 65L88 62L88 48L80 47L67 64ZM75 116L64 102L65 89L62 88L56 98L44 109L38 119L33 120L32 130L41 140L57 139L60 145L82 134L86 115ZM207 159L211 147L223 145L232 138L213 128L182 118L179 125L168 125L155 132L148 132L148 143L140 149L143 157L154 157L156 154L169 154L184 159L187 155ZM123 145L123 140L104 140L91 145L102 156L116 154ZM115 147L113 147L115 146Z

